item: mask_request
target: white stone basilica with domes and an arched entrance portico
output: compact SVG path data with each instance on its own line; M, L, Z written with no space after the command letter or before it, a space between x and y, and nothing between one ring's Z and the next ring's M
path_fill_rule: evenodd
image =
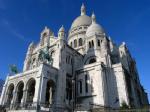
M97 23L81 14L67 33L45 27L31 43L23 72L7 76L0 105L9 112L71 112L92 108L140 108L148 104L136 62L125 42L116 45Z

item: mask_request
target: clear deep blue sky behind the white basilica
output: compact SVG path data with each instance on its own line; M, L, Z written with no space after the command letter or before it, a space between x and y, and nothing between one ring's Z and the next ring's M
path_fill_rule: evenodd
M126 42L150 99L150 0L0 0L0 78L10 64L22 71L29 43L39 41L45 26L55 35L61 25L69 30L82 2L107 35Z

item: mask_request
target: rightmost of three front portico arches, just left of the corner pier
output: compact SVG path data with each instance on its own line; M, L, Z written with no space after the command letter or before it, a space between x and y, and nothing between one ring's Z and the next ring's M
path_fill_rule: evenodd
M34 78L28 80L26 88L27 88L27 103L33 103L34 93L35 93L35 84L36 81Z

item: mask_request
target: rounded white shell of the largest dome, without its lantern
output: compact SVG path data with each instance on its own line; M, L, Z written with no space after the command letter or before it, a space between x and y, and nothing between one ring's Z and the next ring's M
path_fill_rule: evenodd
M92 20L89 16L81 15L73 21L73 23L71 25L71 29L78 27L78 26L83 26L83 25L89 26L91 23L92 23Z

